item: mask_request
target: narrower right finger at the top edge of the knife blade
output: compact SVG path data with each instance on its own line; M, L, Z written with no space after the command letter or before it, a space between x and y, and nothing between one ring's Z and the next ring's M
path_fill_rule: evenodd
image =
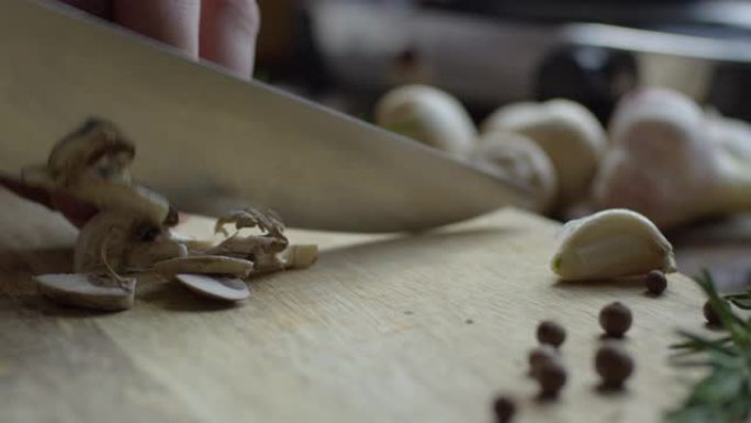
M259 29L256 0L201 0L200 55L250 78Z

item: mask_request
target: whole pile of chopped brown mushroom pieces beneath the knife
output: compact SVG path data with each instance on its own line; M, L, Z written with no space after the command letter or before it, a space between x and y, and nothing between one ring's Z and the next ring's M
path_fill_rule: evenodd
M23 171L27 186L98 211L76 241L75 272L35 276L40 292L70 305L125 310L133 307L137 276L156 272L199 294L238 301L250 294L248 278L315 263L317 247L290 245L272 212L231 211L216 222L225 236L216 245L179 236L169 202L131 178L134 157L134 145L112 123L89 120L55 145L45 165ZM246 229L260 233L242 235Z

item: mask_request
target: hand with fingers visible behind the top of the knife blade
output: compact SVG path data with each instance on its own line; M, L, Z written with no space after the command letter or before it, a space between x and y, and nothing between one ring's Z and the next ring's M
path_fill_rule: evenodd
M214 62L253 75L260 13L256 0L59 0Z

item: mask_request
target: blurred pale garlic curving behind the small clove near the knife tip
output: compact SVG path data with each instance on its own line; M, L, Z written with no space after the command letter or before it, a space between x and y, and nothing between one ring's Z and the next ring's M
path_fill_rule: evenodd
M503 107L485 119L481 129L483 133L525 135L545 151L558 175L559 208L586 197L607 144L597 118L585 107L563 99Z

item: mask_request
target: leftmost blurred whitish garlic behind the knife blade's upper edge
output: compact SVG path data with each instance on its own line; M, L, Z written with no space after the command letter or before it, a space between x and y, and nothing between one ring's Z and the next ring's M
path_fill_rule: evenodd
M374 114L379 126L451 155L464 155L478 135L459 100L429 86L394 88L378 101Z

